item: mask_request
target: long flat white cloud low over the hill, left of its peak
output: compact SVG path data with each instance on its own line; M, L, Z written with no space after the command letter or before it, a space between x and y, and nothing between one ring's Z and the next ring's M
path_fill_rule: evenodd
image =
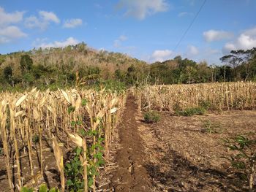
M35 43L40 42L40 40L42 40L42 42L39 45L35 45ZM34 45L35 47L49 48L49 47L67 47L68 45L77 45L78 43L79 43L78 39L69 37L63 42L55 41L50 43L46 43L45 39L37 39L37 42L34 42Z

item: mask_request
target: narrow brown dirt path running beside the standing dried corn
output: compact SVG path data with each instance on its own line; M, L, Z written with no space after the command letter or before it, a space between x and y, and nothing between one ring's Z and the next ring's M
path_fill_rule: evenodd
M151 191L150 177L144 167L143 139L138 133L140 122L135 119L135 98L127 98L126 109L118 126L120 143L116 153L118 168L113 172L111 187L114 191Z

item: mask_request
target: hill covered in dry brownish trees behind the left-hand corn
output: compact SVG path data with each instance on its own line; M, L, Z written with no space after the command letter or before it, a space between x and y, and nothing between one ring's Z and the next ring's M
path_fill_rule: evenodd
M4 89L10 86L63 87L75 82L76 72L88 84L99 80L124 80L128 71L131 75L135 69L143 72L146 66L145 61L122 53L94 50L82 42L64 48L39 48L0 55L0 86ZM133 81L135 78L130 83Z

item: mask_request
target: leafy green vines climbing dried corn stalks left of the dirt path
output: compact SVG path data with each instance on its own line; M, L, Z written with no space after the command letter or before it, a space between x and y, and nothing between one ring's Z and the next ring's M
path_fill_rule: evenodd
M94 121L97 121L98 119L95 118ZM103 157L103 144L104 138L101 137L102 133L102 120L100 120L99 126L94 131L89 129L85 130L82 126L82 122L80 120L72 121L72 126L81 126L78 129L79 137L81 138L89 138L93 139L94 137L97 137L97 141L95 144L87 144L87 150L86 150L86 168L87 168L87 177L88 177L88 186L89 188L93 187L94 184L94 176L97 176L99 174L98 169L99 166L102 166L105 164L104 157ZM94 153L95 151L95 153ZM64 172L67 177L67 189L69 191L83 191L85 183L84 183L84 166L83 166L83 147L76 147L75 153L73 154L73 157L71 161L67 161L67 164L65 164ZM96 161L95 161L96 160Z

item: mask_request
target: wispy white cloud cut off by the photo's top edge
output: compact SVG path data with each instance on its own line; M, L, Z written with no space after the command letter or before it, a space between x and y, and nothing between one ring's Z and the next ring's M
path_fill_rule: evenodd
M169 5L165 0L120 0L117 4L118 9L127 9L124 13L126 16L132 16L143 20L148 15L157 12L167 11Z

